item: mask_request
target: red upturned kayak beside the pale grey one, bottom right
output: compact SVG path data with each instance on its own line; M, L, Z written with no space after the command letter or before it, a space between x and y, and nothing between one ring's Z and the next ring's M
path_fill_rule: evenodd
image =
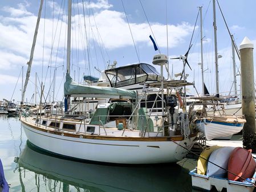
M255 168L256 162L251 155L251 149L235 148L229 158L227 178L232 181L243 181L240 177L253 177Z

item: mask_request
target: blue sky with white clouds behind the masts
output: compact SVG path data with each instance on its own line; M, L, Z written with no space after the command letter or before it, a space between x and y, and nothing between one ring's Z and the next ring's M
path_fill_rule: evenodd
M84 4L83 4L84 2ZM202 6L204 81L210 93L216 92L212 1L169 0L91 0L73 1L71 32L71 76L82 82L83 75L99 77L114 60L117 67L135 63L152 64L153 55L169 58L188 54L185 72L202 93L200 20ZM247 36L256 44L254 0L218 0L227 26L239 48ZM231 40L216 2L219 87L228 95L233 86ZM66 73L67 0L44 1L35 45L34 58L25 101L39 102L40 84L43 100L62 101ZM39 0L0 1L0 100L21 101L22 68L25 82L27 62L38 15ZM197 21L197 22L196 22ZM194 32L193 32L194 31ZM192 37L193 34L193 37ZM152 35L160 51L155 51ZM240 63L235 56L238 69ZM160 72L159 66L156 66ZM255 68L255 50L254 50ZM255 70L254 70L255 71ZM182 72L182 60L169 60L169 73ZM37 75L36 75L37 74ZM165 78L167 72L164 71ZM254 73L255 76L255 73ZM55 79L55 80L54 80ZM237 75L237 89L240 89ZM36 86L35 86L36 85ZM190 93L196 94L193 88Z

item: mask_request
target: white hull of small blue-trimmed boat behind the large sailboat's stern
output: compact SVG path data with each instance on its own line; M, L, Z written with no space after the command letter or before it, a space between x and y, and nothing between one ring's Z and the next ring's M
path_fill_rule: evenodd
M217 121L198 121L197 128L204 133L206 140L213 138L232 136L243 129L243 124L221 123Z

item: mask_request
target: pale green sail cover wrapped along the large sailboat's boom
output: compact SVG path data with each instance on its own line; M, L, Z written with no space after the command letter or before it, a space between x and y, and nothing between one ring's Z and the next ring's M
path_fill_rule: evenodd
M64 83L64 95L81 96L81 97L100 97L100 98L127 98L135 99L136 91L113 88L113 87L99 87L91 85L82 85L72 80L69 74L66 75L66 82Z

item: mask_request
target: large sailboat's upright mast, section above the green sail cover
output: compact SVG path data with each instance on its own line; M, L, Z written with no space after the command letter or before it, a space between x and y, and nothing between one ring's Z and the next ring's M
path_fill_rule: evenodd
M72 1L71 1L71 0L68 0L68 22L67 22L67 74L70 74L71 11L72 11Z

